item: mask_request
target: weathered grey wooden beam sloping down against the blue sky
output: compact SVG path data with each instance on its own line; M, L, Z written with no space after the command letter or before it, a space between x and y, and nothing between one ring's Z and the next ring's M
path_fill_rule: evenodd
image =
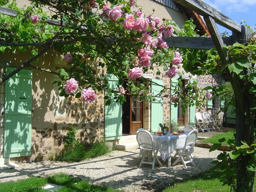
M217 24L220 24L223 27L233 31L241 32L241 25L232 19L228 18L226 15L217 11L213 7L204 3L202 0L174 0L176 3L191 9L202 16L211 16Z

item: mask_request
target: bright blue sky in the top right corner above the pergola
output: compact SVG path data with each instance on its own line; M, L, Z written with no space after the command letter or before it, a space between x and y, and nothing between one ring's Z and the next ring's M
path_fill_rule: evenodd
M238 24L244 19L247 25L256 27L256 0L202 0L222 12ZM220 32L226 31L218 27ZM256 31L256 30L254 30Z

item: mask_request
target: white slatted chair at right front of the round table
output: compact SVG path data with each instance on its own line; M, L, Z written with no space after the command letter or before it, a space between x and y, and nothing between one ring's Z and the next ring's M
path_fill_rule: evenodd
M177 160L175 162L173 162L173 165L176 165L177 162L182 162L182 164L184 165L185 168L187 168L188 163L192 163L193 166L196 166L196 164L193 162L193 151L194 151L194 146L196 144L196 140L198 137L198 132L197 130L192 130L187 138L186 138L186 142L183 148L178 148L176 149L176 155L179 155L179 157L177 158ZM183 155L185 154L185 157L183 157ZM185 159L184 159L185 158Z

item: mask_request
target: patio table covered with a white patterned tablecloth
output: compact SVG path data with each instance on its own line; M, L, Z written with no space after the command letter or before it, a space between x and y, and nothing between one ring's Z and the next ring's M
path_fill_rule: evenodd
M187 135L188 132L184 132L182 135L152 135L155 148L160 152L161 159L163 161L168 159L168 167L171 167L171 154L177 148L184 147Z

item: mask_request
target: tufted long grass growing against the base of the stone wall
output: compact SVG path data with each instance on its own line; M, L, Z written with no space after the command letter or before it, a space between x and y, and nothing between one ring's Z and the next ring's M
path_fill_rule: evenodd
M75 142L73 147L64 148L60 156L56 157L57 161L79 162L88 158L95 158L110 152L109 147L104 141L95 142L88 147L83 143Z

